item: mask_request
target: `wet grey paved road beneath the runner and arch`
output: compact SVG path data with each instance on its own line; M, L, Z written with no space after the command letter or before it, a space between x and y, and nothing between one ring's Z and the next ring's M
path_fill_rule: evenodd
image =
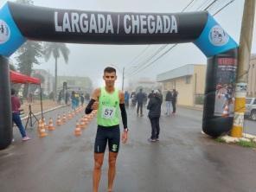
M47 118L60 111L49 112ZM255 191L255 150L203 135L202 112L178 108L175 118L163 116L157 143L147 141L150 123L145 116L136 117L130 109L128 118L130 141L120 149L114 191ZM15 131L14 144L0 151L1 192L92 191L95 119L80 138L73 135L74 124L72 119L47 138L28 130L33 139L26 143ZM107 156L99 191L106 191L106 175Z

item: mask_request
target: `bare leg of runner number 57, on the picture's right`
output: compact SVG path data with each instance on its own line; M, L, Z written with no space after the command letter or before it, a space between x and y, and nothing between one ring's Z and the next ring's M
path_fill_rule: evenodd
M118 153L109 151L109 157L108 157L108 191L112 191L114 178L116 176L116 160L118 157Z

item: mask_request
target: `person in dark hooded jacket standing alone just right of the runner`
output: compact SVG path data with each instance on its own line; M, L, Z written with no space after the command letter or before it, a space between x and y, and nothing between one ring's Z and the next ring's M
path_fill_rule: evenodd
M150 98L147 109L149 110L149 118L151 124L151 137L148 139L150 142L159 141L159 118L161 116L161 105L163 99L161 98L161 94L158 90L155 90L153 93L153 97Z

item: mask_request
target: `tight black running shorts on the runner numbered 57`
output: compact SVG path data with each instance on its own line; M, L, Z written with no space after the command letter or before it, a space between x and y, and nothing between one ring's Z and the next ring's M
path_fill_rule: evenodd
M108 149L110 151L118 153L120 144L119 125L114 125L111 127L98 125L94 144L94 152L104 153L106 150L106 143L108 143Z

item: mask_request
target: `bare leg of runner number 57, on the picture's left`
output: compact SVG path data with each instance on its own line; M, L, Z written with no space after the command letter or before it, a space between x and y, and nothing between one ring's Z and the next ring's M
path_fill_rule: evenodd
M98 192L104 153L94 153L93 192Z

